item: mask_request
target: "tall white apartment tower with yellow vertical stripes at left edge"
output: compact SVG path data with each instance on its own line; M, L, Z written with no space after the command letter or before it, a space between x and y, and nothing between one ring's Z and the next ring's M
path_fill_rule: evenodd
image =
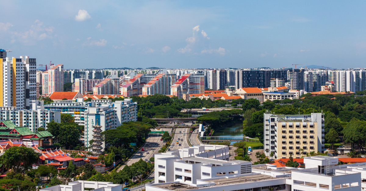
M0 107L29 109L36 99L36 59L0 58Z

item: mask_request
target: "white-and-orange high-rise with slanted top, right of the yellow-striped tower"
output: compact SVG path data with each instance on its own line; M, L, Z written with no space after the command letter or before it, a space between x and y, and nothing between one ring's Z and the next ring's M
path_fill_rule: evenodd
M64 91L64 65L57 64L51 69L42 73L42 93L51 94L53 92Z

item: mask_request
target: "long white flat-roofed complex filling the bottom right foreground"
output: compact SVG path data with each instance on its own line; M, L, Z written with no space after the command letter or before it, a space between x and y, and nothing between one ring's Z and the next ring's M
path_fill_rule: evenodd
M251 166L252 173L226 174L208 178L201 176L201 179L192 179L190 182L175 180L149 184L145 188L146 191L366 190L366 182L363 182L366 180L366 163L337 165L335 161L337 158L328 156L304 157L305 169L259 164ZM182 168L185 167L182 166Z

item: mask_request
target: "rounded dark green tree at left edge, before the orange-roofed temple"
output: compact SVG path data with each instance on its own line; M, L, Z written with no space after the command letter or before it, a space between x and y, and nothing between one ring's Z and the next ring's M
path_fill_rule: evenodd
M24 146L13 146L5 150L0 157L1 164L6 169L24 173L38 160L38 154L33 149Z

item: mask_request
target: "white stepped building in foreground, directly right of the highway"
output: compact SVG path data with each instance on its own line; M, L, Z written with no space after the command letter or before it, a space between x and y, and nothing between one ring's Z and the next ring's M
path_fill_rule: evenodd
M227 161L228 157L229 147L223 145L195 145L155 154L155 179L196 184L202 178L251 173L250 162Z

